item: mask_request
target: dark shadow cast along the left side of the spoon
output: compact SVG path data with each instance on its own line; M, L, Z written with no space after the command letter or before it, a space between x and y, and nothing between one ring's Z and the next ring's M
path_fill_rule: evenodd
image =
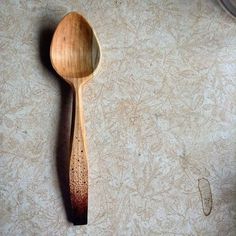
M64 82L60 76L54 71L50 61L50 44L54 33L55 26L45 26L39 32L39 55L40 61L44 68L52 75L51 77L57 81L60 87L60 109L59 122L57 127L55 161L57 176L63 203L68 221L74 223L73 211L70 203L69 194L69 156L71 150L71 100L72 91L70 86ZM73 116L72 116L73 117Z

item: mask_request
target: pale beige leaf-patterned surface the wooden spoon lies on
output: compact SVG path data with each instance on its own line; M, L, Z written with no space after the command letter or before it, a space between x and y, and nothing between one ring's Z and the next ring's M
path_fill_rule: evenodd
M235 235L236 21L216 1L0 6L1 235ZM57 174L63 180L71 94L48 61L52 30L71 10L93 25L103 54L84 88L82 227L67 221ZM207 217L202 177L213 193Z

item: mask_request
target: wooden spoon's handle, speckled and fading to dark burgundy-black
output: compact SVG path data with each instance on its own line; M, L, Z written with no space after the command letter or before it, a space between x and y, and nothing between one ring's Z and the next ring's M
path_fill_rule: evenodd
M74 84L74 133L70 156L69 185L74 224L87 224L88 161L83 124L82 86Z

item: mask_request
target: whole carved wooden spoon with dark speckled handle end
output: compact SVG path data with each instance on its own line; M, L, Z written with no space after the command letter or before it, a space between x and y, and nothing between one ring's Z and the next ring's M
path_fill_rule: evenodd
M56 72L74 92L75 117L70 155L69 187L74 224L87 224L88 162L82 115L82 85L91 79L100 60L92 27L76 12L67 14L53 35L50 58ZM97 70L96 70L97 71Z

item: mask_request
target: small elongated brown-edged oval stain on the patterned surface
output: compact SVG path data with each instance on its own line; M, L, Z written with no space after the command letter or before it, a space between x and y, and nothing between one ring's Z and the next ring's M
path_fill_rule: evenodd
M203 212L205 216L208 216L212 210L212 193L209 181L205 178L199 179L198 188L201 195Z

